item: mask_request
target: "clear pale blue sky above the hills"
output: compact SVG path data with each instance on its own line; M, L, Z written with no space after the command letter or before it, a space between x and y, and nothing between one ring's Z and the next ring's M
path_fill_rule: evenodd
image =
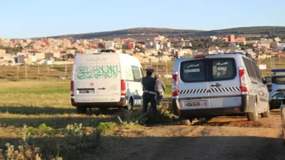
M0 37L35 38L133 27L285 26L284 6L284 0L0 0Z

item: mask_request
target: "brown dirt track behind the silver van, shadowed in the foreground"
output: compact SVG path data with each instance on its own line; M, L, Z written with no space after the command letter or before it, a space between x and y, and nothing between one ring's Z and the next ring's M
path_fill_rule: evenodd
M102 159L285 159L279 112L256 122L218 117L195 124L117 131Z

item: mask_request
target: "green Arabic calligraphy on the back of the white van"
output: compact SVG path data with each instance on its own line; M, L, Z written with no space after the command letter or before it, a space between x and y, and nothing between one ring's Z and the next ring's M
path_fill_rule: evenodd
M116 78L118 65L78 66L76 71L78 79Z

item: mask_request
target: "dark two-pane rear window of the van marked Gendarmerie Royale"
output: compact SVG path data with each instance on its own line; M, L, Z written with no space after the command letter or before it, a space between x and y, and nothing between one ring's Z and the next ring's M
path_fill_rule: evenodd
M195 59L181 62L183 82L222 81L237 75L234 58Z

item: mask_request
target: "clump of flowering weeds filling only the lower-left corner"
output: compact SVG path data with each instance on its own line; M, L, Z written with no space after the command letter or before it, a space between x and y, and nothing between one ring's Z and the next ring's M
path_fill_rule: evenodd
M83 127L81 123L69 124L61 130L52 129L45 124L37 128L24 125L21 133L22 138L17 150L9 143L6 144L5 150L0 149L1 160L82 159L82 153L95 149L100 139L99 132ZM33 137L39 133L40 138ZM56 137L54 133L61 133L64 137Z

